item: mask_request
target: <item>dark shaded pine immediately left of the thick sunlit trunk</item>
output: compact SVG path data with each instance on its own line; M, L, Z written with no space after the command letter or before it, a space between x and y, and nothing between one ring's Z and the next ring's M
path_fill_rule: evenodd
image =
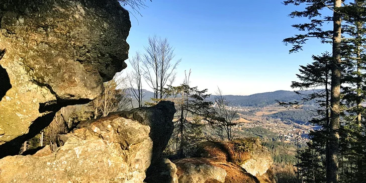
M303 102L314 100L319 105L316 110L317 115L310 123L322 127L319 130L310 132L309 136L312 141L308 143L305 151L300 154L301 163L298 163L297 166L301 169L306 182L322 182L322 180L325 180L325 171L322 173L321 169L316 169L317 172L314 172L314 168L326 169L325 156L328 153L329 145L329 85L332 57L328 52L325 52L321 56L313 55L313 60L314 62L311 64L300 66L300 74L297 74L300 81L293 81L291 86L305 90L314 87L324 88L314 90L314 93L308 95L302 94L301 91L297 92L303 96ZM314 156L310 157L311 154Z

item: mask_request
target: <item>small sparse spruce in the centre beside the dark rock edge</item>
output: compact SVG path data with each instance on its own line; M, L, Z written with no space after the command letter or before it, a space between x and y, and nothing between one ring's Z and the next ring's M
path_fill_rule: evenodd
M177 158L189 156L191 147L204 140L202 127L205 122L212 123L216 120L216 112L211 107L213 103L206 100L210 96L206 94L207 89L199 90L197 86L191 87L189 75L186 75L186 79L179 86L168 85L163 90L168 96L165 100L173 101L175 104L176 120L171 140L174 141Z

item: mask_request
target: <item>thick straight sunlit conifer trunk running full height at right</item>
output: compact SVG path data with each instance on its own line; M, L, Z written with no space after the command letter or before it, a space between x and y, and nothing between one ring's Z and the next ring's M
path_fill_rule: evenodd
M338 8L342 6L341 0L334 0L333 13L333 59L332 59L332 79L331 79L331 97L330 97L330 137L329 137L329 174L327 183L338 182L338 153L339 153L339 126L340 126L340 64L341 64L341 16Z

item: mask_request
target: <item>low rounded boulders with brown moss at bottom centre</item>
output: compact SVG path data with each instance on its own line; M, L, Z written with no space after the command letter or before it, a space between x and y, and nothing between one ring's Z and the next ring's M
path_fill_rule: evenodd
M273 160L259 139L203 142L197 157L175 161L179 183L276 182L269 169ZM197 170L195 170L197 169Z

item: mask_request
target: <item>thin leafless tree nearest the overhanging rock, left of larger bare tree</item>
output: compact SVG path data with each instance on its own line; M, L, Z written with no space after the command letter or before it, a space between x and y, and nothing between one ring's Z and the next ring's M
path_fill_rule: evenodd
M136 52L136 55L130 58L130 63L132 67L132 71L128 74L128 83L130 94L137 100L138 107L142 107L142 75L143 69L141 67L142 58L140 52ZM132 101L131 101L132 106ZM133 106L132 106L133 108Z

